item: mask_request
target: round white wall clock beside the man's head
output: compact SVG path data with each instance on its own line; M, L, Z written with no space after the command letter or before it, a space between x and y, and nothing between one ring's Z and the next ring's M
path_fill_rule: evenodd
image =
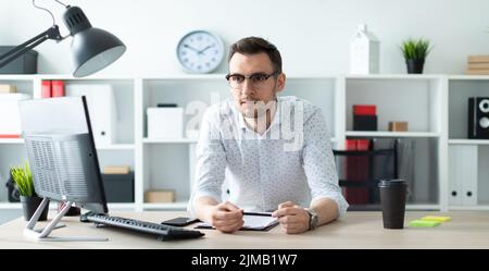
M223 41L216 35L196 30L185 35L177 46L177 59L191 73L210 73L223 61Z

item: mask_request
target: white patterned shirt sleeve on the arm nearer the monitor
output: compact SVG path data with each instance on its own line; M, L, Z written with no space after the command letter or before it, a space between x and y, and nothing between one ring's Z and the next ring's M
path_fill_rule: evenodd
M195 186L187 210L195 215L196 199L210 196L221 201L222 185L225 178L226 153L217 128L218 118L208 109L200 125L197 144L197 165Z

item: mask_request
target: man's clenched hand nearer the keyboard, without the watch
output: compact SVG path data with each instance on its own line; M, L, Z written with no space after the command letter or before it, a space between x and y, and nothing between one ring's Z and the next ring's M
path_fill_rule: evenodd
M211 224L223 233L233 233L241 229L243 210L229 201L216 205L210 213Z

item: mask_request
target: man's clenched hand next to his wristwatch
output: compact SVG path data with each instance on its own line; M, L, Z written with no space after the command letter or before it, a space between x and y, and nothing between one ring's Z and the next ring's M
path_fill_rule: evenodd
M278 205L278 210L274 211L272 217L278 218L281 229L288 234L309 230L309 212L292 201Z

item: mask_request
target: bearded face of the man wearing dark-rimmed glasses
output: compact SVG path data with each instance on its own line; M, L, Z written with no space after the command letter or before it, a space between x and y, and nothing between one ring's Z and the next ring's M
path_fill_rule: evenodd
M263 112L260 107L271 104L268 102L275 100L276 94L284 89L285 75L272 75L274 73L272 61L264 52L233 54L229 60L230 91L237 108L244 116L258 118L259 112ZM239 82L239 75L246 78ZM253 76L250 78L250 75ZM272 76L267 77L268 75Z

